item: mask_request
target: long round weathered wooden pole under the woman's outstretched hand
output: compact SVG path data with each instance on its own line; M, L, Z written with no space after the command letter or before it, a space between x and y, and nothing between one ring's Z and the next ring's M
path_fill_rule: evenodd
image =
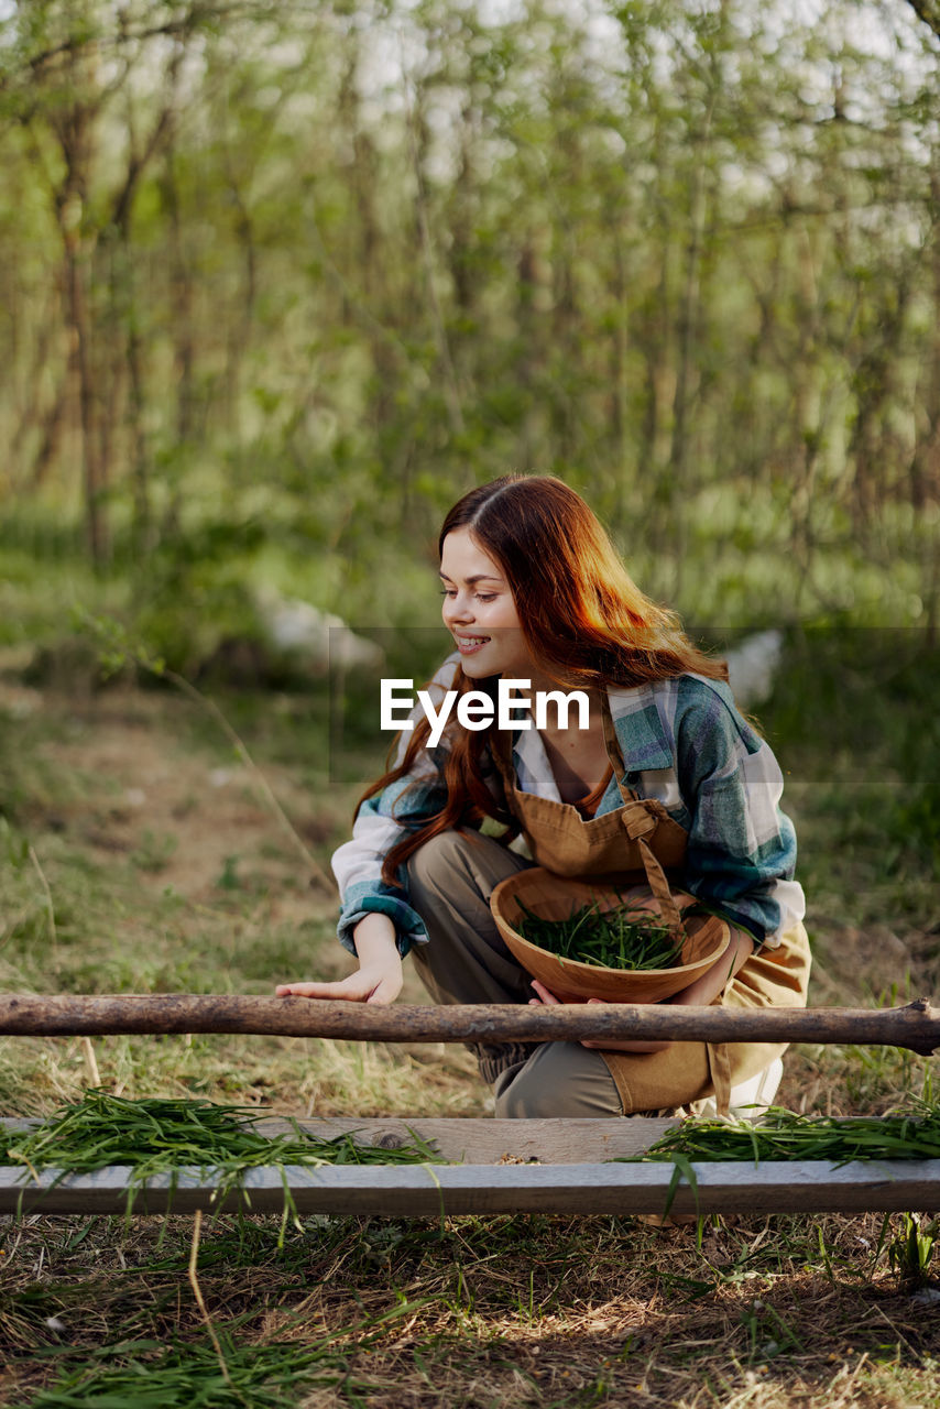
M475 1003L385 1007L304 998L217 993L8 995L0 1036L85 1037L94 1033L254 1033L376 1043L545 1043L595 1040L710 1043L857 1043L940 1047L940 1009L684 1007L669 1003Z

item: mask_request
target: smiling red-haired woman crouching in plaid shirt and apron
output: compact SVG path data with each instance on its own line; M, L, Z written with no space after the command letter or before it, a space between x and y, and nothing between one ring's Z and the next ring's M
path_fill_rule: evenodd
M340 940L358 969L278 993L390 1003L410 952L440 1003L555 1002L516 964L489 896L533 861L559 875L643 882L644 848L676 888L720 910L731 948L672 1002L803 1006L809 945L796 844L779 810L777 761L736 710L723 662L626 573L585 502L559 479L506 475L471 490L441 535L445 690L528 681L582 690L586 721L548 707L464 728L451 710L435 747L421 710L395 766L364 795L352 840L333 858ZM586 727L582 727L586 723ZM526 727L530 726L530 727ZM495 840L485 819L505 826ZM528 857L510 850L521 834ZM478 1047L500 1116L675 1110L734 1091L784 1047L706 1043L543 1043ZM769 1093L772 1095L772 1092Z

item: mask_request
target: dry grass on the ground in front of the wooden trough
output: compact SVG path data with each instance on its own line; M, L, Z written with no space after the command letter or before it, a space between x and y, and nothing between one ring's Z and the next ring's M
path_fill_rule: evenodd
M116 1330L204 1344L186 1286L190 1222L155 1224L35 1219L7 1230L8 1396L18 1402L63 1361L90 1361ZM203 1234L199 1282L220 1334L237 1327L240 1346L335 1337L366 1402L389 1409L768 1409L820 1395L936 1405L936 1312L932 1324L898 1292L874 1255L881 1231L877 1217L723 1220L698 1247L693 1229L630 1219L321 1219L278 1251L264 1220L218 1220ZM285 1402L348 1401L334 1386Z

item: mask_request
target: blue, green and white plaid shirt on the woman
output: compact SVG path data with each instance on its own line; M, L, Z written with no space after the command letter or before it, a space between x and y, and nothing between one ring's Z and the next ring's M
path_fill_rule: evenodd
M431 689L450 688L459 657L448 657ZM727 685L681 675L631 689L609 688L607 700L626 766L626 783L638 797L657 797L688 831L682 889L713 905L767 948L805 914L802 886L793 879L796 836L779 810L784 779L767 743L734 707ZM448 726L459 727L457 724ZM443 761L447 731L424 750L407 778L362 805L347 841L333 857L342 909L340 941L355 952L352 930L372 910L388 914L399 950L427 943L427 930L407 896L407 876L386 885L382 858L421 819L445 800ZM407 735L399 744L399 758ZM523 792L561 802L548 755L536 728L513 734L513 766ZM485 755L486 781L502 782ZM610 779L596 816L621 805Z

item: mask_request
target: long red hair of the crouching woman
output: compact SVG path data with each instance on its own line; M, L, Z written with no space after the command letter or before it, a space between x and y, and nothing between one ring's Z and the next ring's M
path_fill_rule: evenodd
M724 661L693 645L675 612L640 592L598 517L554 475L503 475L471 489L444 520L438 552L455 528L469 528L499 564L533 657L567 689L645 685L688 671L727 681ZM458 665L451 689L485 689L495 697L496 683L496 678L471 681ZM364 792L357 816L368 797L412 771L430 728L427 719L414 724L400 762ZM382 867L386 885L396 885L399 867L441 831L492 817L506 826L503 840L519 834L509 807L483 778L493 730L454 731L441 758L447 800L389 850Z

